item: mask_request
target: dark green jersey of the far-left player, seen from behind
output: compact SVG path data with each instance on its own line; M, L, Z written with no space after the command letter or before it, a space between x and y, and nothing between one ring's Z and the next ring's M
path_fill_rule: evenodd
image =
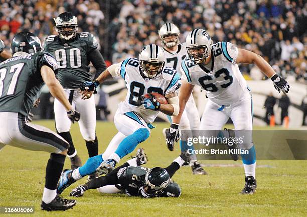
M0 63L0 112L17 112L27 116L44 85L41 67L58 69L51 54L37 52L16 56Z

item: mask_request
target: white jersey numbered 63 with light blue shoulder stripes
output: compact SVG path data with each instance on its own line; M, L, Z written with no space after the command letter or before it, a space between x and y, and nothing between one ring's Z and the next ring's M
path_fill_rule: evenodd
M218 42L212 46L211 56L211 69L197 65L187 56L181 63L182 79L204 88L208 98L218 105L237 102L247 89L236 64L238 48L229 42Z

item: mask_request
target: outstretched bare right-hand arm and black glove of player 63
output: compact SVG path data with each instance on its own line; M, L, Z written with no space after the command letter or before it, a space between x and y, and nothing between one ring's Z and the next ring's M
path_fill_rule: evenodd
M279 93L280 91L283 93L287 93L289 91L290 85L288 82L277 75L270 64L266 62L260 55L245 49L239 49L236 63L255 64L261 70L261 72L263 72L274 82L274 87L276 90L278 90Z

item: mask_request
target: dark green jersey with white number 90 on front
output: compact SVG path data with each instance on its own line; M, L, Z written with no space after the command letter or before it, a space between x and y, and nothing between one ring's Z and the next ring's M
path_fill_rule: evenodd
M88 53L98 47L95 37L87 32L77 33L71 41L63 41L57 35L48 36L44 51L51 53L58 62L57 77L65 89L78 89L80 83L91 81Z

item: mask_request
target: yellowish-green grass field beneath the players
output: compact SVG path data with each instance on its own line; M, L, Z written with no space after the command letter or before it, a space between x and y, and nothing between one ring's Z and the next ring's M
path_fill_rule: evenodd
M54 130L53 121L35 123ZM155 124L150 138L139 146L145 148L149 157L147 167L168 166L179 154L178 148L174 152L166 148L161 134L166 126ZM113 123L105 122L98 122L96 129L99 153L102 153L117 131ZM84 163L88 155L77 124L71 132ZM32 216L307 216L307 161L257 161L258 188L254 195L238 194L244 185L241 162L208 160L202 161L209 173L207 176L192 175L189 167L181 168L173 176L182 188L180 198L142 199L121 194L103 195L90 190L77 198L77 205L72 210L49 213L40 210L48 158L49 154L45 152L6 146L0 152L0 206L34 206ZM235 166L206 167L206 164ZM65 168L68 167L70 163L66 160ZM83 179L73 184L63 196L68 197L71 189L85 182Z

